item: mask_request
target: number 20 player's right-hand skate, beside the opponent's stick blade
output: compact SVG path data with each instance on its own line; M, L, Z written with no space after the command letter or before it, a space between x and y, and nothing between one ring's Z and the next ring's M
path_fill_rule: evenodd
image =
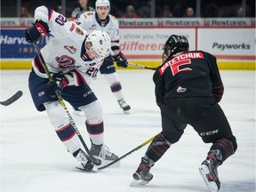
M92 147L90 149L92 156L100 158L101 164L100 166L105 166L106 164L110 164L111 162L118 159L116 154L110 152L109 148L106 145L95 145L92 143ZM116 163L116 166L119 166L120 162Z

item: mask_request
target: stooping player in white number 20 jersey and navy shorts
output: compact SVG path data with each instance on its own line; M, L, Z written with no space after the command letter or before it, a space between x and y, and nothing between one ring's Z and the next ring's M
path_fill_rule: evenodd
M110 38L100 30L88 33L51 8L39 6L35 11L35 24L25 30L25 37L28 43L35 43L48 33L52 38L41 52L52 78L58 84L49 81L41 60L36 56L29 74L29 90L36 109L47 111L52 126L68 152L83 165L85 171L91 171L93 164L80 148L76 131L55 92L60 92L63 100L67 100L73 108L84 111L84 125L92 141L92 155L99 156L102 163L104 160L116 160L118 156L103 145L102 109L88 85L110 52Z

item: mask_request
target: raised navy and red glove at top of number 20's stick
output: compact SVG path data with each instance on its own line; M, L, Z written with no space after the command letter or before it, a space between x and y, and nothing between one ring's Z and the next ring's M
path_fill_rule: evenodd
M40 37L46 36L50 32L47 23L43 20L36 20L33 27L25 29L26 41L31 44L37 42Z

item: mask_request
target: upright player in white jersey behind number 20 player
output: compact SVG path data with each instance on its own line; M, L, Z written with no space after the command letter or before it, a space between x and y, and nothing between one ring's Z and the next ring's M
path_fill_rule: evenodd
M116 18L108 14L110 4L108 0L97 0L95 3L96 12L85 12L78 18L76 23L85 30L92 32L93 30L103 30L108 33L111 39L111 49L114 52L113 58L111 54L105 58L100 73L104 74L110 84L110 89L114 93L119 106L123 108L124 113L129 113L130 106L125 102L122 92L122 86L119 77L116 74L114 61L118 67L127 68L127 60L119 49L119 26Z

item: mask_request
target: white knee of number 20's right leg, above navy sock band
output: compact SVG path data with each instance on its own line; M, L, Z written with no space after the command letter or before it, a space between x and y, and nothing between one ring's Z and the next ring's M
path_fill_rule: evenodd
M98 124L102 121L102 107L98 100L93 101L89 105L82 106L79 108L84 111L85 116L87 117L87 122L90 124Z

